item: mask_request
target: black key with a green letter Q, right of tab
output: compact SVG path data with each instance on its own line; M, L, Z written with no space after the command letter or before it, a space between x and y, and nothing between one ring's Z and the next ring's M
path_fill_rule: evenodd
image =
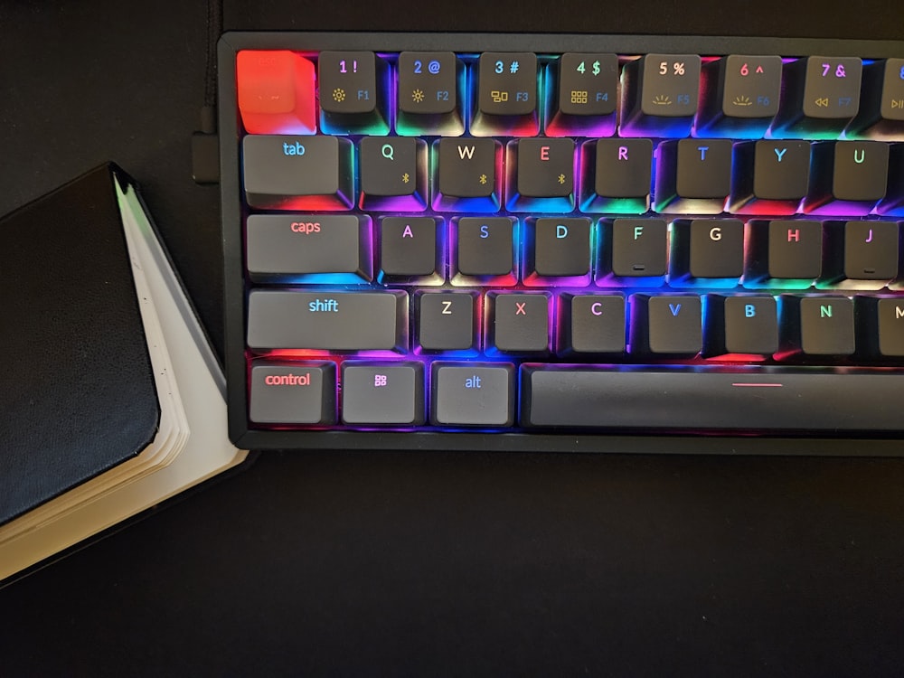
M427 206L427 144L405 137L364 137L362 209L421 211Z

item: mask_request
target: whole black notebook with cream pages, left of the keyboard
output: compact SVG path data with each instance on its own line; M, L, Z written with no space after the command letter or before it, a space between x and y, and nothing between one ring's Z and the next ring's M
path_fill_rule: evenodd
M135 184L0 220L0 580L239 465L225 381Z

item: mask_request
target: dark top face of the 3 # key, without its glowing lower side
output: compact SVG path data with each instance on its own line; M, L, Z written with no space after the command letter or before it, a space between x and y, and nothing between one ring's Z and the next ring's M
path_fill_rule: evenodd
M480 55L477 109L490 116L531 116L537 108L537 55Z

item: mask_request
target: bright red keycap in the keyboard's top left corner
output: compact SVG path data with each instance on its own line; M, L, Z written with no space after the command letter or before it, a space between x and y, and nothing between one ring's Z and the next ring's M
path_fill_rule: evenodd
M287 50L236 55L242 124L249 134L315 134L314 64Z

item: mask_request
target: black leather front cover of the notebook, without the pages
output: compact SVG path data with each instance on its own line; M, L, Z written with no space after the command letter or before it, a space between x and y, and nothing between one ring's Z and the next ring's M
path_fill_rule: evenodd
M0 524L155 438L160 411L114 169L0 219Z

